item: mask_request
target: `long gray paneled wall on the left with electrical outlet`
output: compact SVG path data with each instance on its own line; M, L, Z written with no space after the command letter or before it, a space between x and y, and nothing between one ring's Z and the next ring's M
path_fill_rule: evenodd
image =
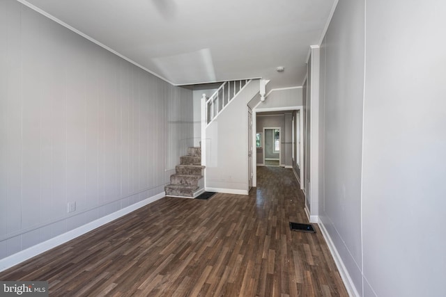
M13 0L0 51L0 259L164 191L192 91Z

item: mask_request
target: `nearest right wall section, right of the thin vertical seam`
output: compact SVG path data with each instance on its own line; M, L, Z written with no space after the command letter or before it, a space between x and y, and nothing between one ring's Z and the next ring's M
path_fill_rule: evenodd
M444 1L367 1L365 296L445 296L445 15Z

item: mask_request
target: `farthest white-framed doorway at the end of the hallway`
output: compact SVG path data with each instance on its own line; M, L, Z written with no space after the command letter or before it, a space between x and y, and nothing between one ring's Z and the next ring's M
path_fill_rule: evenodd
M263 128L263 164L280 166L281 160L280 127Z

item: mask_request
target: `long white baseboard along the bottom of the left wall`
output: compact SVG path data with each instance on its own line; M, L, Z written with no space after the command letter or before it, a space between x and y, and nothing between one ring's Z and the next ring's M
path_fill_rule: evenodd
M56 246L60 246L62 243L66 243L72 239L75 239L78 236L86 234L91 230L96 229L102 225L105 225L112 220L116 220L116 218L121 218L121 216L125 216L126 214L130 214L130 212L135 211L141 207L146 206L156 200L160 200L165 196L165 193L159 193L152 197L149 197L143 201L132 204L128 207L115 211L112 214L108 214L107 216L103 216L102 218L98 218L97 220L93 220L93 222L86 223L81 227L77 227L76 229L70 230L66 233L63 233L59 236L53 237L52 239L48 239L47 241L43 241L42 243L36 244L36 246L31 246L30 248L26 248L26 250L22 250L20 252L15 253L14 255L10 255L6 258L0 259L0 272L4 271L12 266L20 264L27 259L35 257L42 252L46 252L47 250L51 250Z

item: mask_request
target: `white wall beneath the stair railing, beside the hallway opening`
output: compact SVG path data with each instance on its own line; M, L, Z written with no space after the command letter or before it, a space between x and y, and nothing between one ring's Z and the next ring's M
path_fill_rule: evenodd
M206 189L247 194L247 103L256 93L258 79L250 81L206 128Z

